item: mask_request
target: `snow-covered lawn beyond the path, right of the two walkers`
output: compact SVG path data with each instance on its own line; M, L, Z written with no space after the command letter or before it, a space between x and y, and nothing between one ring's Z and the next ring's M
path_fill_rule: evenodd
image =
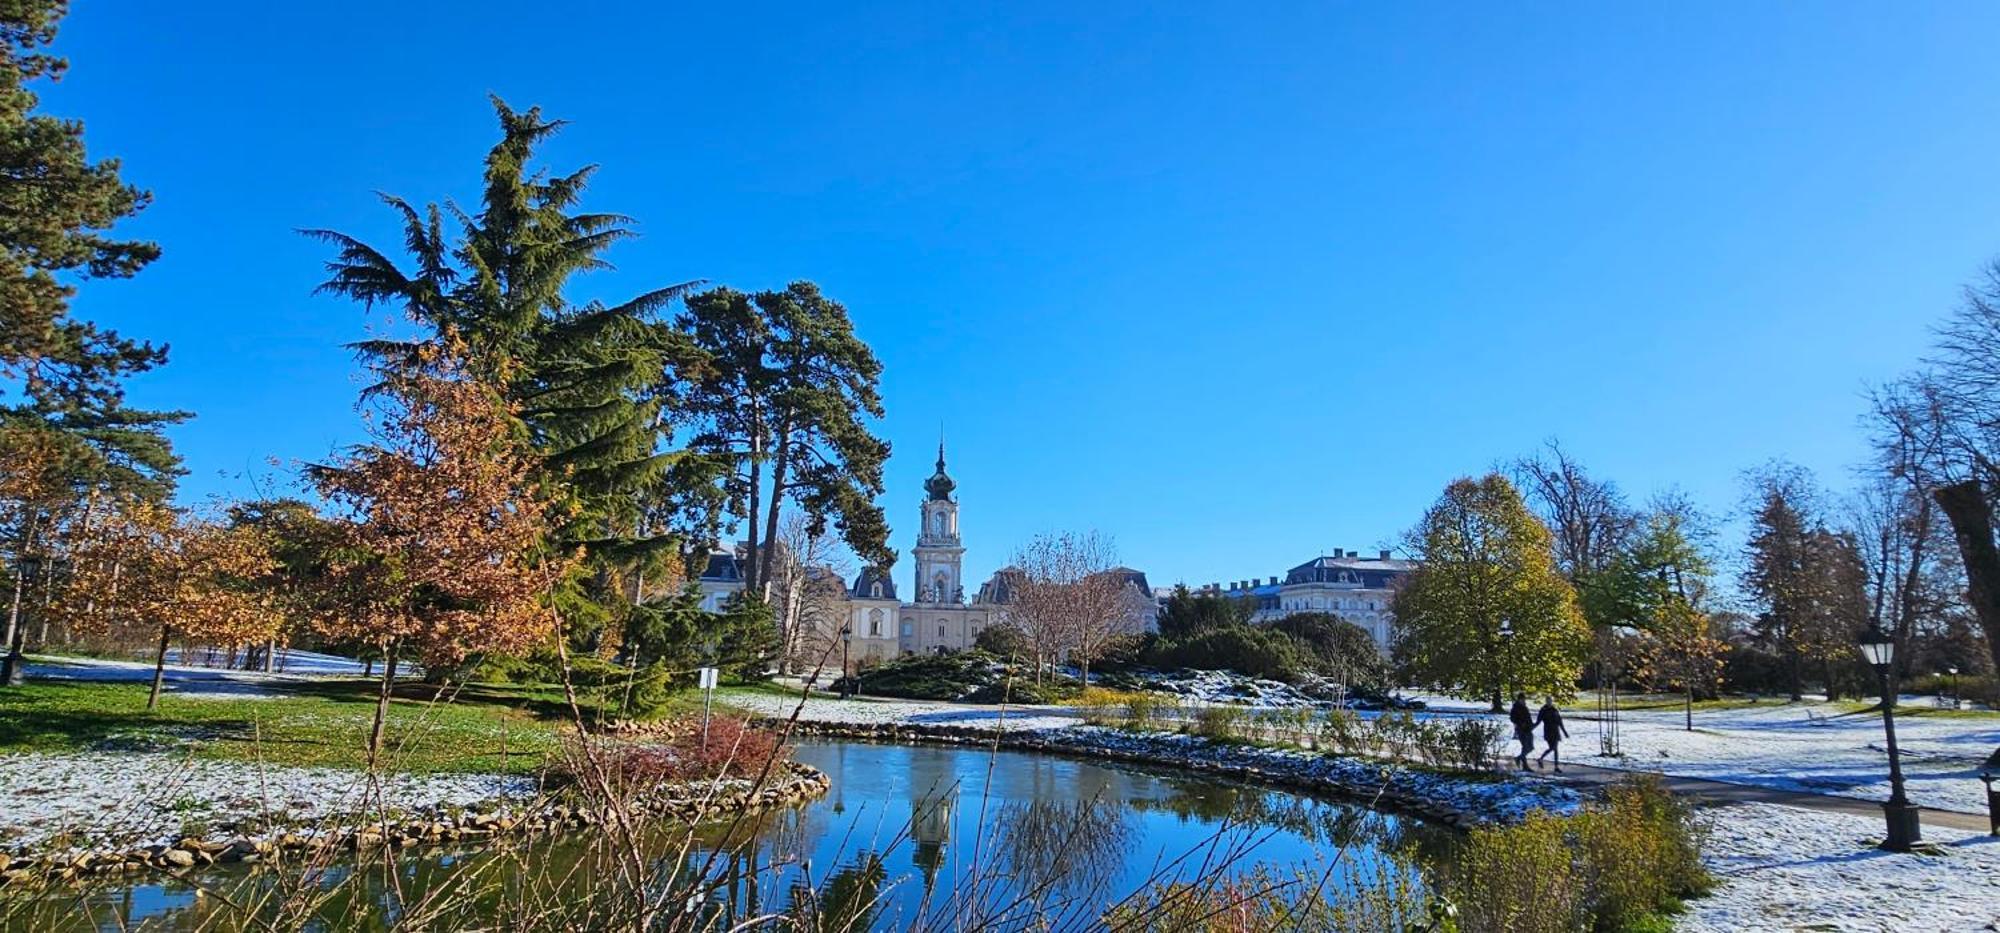
M1572 711L1568 717L1572 745L1566 747L1566 757L1574 755L1574 761L1888 799L1888 751L1880 713L1846 713L1830 703L1770 701L1746 709L1696 711L1690 733L1678 709L1626 711L1620 715L1620 759L1596 755L1598 725L1588 715ZM2000 745L2000 717L1898 717L1896 739L1912 801L1986 813L1986 787L1978 771Z

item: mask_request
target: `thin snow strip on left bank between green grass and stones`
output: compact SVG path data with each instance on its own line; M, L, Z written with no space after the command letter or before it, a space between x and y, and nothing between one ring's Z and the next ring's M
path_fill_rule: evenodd
M176 753L0 755L0 851L56 837L74 849L142 847L182 835L226 839L246 819L322 817L476 805L528 797L532 779L384 775L380 797L360 771L190 759Z

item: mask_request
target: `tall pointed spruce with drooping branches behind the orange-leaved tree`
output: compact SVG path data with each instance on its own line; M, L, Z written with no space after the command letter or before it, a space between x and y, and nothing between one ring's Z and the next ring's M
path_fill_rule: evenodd
M430 330L420 340L356 344L376 364L408 368L422 344L452 334L464 342L468 374L502 388L542 479L568 497L556 511L564 517L556 545L582 547L592 573L558 601L572 639L594 647L602 625L638 601L634 581L670 561L680 541L668 523L648 521L644 501L678 456L666 448L676 380L700 364L662 310L694 282L620 304L574 302L574 278L606 268L604 252L632 236L632 220L578 210L596 166L560 176L532 168L536 146L562 122L498 98L494 110L502 134L486 156L478 212L384 198L402 220L406 264L354 236L308 234L338 250L320 290L394 304Z

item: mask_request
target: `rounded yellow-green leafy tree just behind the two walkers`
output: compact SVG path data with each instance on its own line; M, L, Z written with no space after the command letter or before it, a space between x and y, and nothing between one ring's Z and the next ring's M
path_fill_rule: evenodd
M1396 651L1412 677L1494 711L1508 691L1576 693L1590 627L1548 527L1506 477L1454 481L1408 549L1420 565L1396 593Z

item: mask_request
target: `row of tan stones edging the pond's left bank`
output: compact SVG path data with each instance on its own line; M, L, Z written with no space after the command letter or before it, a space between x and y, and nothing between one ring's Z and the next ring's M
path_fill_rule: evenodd
M832 779L812 765L786 761L782 773L764 787L730 779L702 785L670 785L648 793L638 809L668 821L694 823L718 813L760 813L792 807L826 795ZM430 847L478 843L506 837L530 837L580 831L606 821L606 815L582 803L562 803L568 793L540 797L524 807L492 805L460 811L430 807L430 819L384 819L366 823L322 821L320 831L300 835L292 829L242 835L230 841L184 837L172 845L134 849L102 849L74 855L16 855L0 861L0 889L26 883L68 883L84 877L156 869L186 873L216 863L260 863L280 853L322 855L332 851L362 851L376 847Z

